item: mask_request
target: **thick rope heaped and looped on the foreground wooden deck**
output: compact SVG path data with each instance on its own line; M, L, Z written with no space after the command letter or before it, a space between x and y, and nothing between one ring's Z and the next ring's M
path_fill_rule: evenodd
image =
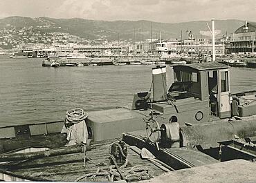
M120 144L118 144L118 142L115 142L113 144L117 144L118 147L120 148L120 153L122 154L122 156L125 156L125 153L122 151L122 147L120 146ZM111 144L111 145L113 145ZM111 147L111 146L110 146ZM110 148L110 153L111 153L111 148ZM116 162L115 157L113 157L113 155L110 154L111 160L113 162ZM133 167L126 167L128 164L128 159L126 157L125 159L125 164L123 164L122 166L118 167L119 171L122 173L122 175L125 176L125 180L127 180L129 182L129 180L131 179L136 179L136 180L148 180L150 178L152 178L151 175L149 175L149 171L151 171L149 168L147 168L146 166L133 166ZM109 182L113 182L114 178L116 178L116 180L121 179L121 175L117 170L117 167L115 165L111 165L109 166L109 171L105 171L102 168L98 167L97 171L95 173L87 173L85 175L82 175L81 177L78 177L75 182L79 182L82 179L85 179L87 177L91 177L93 179L95 179L95 177L97 175L104 175L107 176Z

